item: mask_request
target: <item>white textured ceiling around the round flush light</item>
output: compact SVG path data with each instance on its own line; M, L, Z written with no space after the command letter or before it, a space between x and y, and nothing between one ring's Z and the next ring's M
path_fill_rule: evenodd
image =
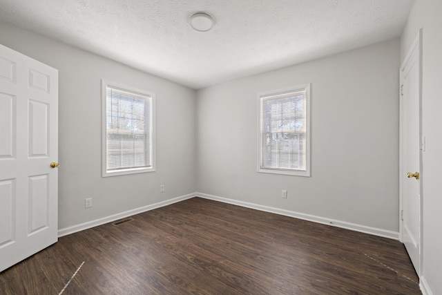
M399 37L413 1L0 0L0 20L203 88Z

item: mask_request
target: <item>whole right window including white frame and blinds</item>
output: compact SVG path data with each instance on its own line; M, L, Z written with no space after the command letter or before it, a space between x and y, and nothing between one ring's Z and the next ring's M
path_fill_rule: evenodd
M258 101L258 172L310 176L310 84Z

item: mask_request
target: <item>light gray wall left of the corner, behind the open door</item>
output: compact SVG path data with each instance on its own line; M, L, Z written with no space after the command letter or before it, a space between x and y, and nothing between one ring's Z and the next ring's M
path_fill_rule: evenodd
M195 191L195 91L6 23L0 44L59 70L59 229ZM156 172L102 178L101 79L156 94Z

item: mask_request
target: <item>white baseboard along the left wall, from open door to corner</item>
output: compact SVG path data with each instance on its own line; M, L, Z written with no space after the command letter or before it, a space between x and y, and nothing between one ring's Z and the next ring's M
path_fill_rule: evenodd
M144 206L144 207L132 209L132 210L129 210L129 211L124 211L122 213L117 213L117 214L114 214L114 215L111 215L111 216L106 216L104 218L99 218L99 219L92 220L92 221L89 221L89 222L84 222L84 223L81 223L80 225L74 225L72 227L66 227L64 229L59 229L58 236L62 237L62 236L66 236L68 234L74 234L77 231L84 231L85 229L90 229L91 227L97 227L98 225L104 225L105 223L108 223L108 222L113 222L113 221L119 220L121 218L126 218L128 216L133 216L133 215L138 214L138 213L143 213L143 212L146 212L146 211L149 211L149 210L157 209L157 208L160 208L160 207L164 207L164 206L167 206L167 205L170 205L170 204L173 204L173 203L176 203L176 202L181 202L181 201L184 201L184 200L187 200L187 199L190 199L190 198L194 198L194 197L195 197L195 193L189 193L189 195L186 195L186 196L181 196L181 197L173 198L171 200L165 200L165 201L162 201L162 202L157 202L155 204L151 204L151 205L147 205L147 206Z

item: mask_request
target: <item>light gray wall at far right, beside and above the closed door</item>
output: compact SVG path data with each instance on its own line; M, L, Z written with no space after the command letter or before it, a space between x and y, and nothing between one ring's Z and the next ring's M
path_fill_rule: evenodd
M442 294L442 1L416 0L401 38L404 59L423 28L422 120L423 263L421 284L427 294Z

